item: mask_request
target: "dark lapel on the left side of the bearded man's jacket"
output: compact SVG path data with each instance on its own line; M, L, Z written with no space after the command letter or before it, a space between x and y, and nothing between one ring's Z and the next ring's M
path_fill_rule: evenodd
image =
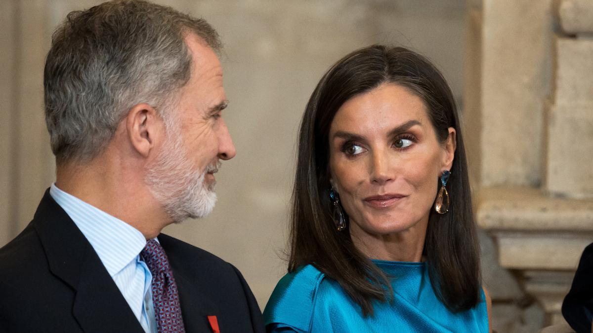
M72 219L46 191L33 225L52 273L75 290L72 313L85 332L144 332Z

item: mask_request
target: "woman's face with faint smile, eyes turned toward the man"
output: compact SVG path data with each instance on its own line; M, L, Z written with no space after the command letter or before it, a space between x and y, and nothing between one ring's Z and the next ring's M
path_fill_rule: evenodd
M440 142L422 99L384 84L339 108L329 143L331 183L353 238L380 239L410 229L424 236L438 177L451 168L454 129Z

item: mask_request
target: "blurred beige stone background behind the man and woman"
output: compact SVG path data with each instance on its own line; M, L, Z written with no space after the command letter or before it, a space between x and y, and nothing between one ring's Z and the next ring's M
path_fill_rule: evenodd
M99 2L0 1L0 246L55 180L42 85L52 31ZM354 49L406 46L441 68L460 105L493 328L563 322L562 299L593 242L593 2L157 2L221 35L237 148L216 177L211 216L165 233L237 266L263 309L286 273L297 130L313 88Z

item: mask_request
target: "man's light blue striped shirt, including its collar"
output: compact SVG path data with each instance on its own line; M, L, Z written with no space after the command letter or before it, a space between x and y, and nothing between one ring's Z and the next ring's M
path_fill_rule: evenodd
M146 245L144 235L126 222L60 190L55 183L49 194L93 246L144 331L156 333L152 274L139 256Z

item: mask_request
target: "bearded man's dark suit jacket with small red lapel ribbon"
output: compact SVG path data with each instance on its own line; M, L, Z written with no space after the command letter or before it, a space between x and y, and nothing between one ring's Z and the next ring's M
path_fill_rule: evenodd
M262 313L228 262L161 234L187 332L263 332ZM0 249L0 332L144 332L93 247L43 196L31 223Z

